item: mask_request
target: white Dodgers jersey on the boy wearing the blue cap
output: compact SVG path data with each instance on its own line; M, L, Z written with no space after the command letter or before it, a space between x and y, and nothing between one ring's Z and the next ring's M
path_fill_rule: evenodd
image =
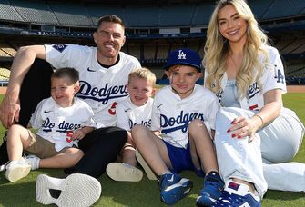
M187 98L181 99L172 92L171 86L162 88L155 96L151 117L151 130L161 132L162 138L176 146L186 148L188 144L188 124L199 119L208 132L215 129L215 117L219 101L207 88L196 84Z

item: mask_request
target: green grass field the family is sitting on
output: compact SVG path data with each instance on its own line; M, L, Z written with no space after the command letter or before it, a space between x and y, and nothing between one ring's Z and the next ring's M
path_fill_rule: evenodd
M305 123L305 94L285 94L284 104L294 110ZM1 126L0 135L3 136L4 132L5 129ZM294 161L305 163L305 143L302 144ZM35 199L36 177L41 173L56 177L60 176L62 171L41 169L31 172L26 178L14 183L8 182L5 179L5 172L1 172L0 206L41 206ZM202 179L192 172L181 174L194 182L194 188L188 197L178 202L176 206L195 206L198 192L202 187ZM159 200L157 182L147 180L146 176L141 182L114 182L104 174L99 181L103 190L95 206L166 206ZM262 206L305 206L305 193L268 191Z

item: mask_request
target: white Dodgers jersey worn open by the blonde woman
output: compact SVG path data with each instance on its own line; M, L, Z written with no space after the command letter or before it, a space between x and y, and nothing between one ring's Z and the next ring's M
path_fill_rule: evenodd
M278 50L271 46L266 46L269 53L269 62L264 66L263 74L259 78L259 82L262 88L259 88L257 82L251 84L248 88L248 94L246 97L241 99L241 108L259 111L264 106L264 96L266 92L272 89L281 89L282 93L286 93L286 81L283 64L280 60L280 54ZM259 60L263 62L264 56L259 55ZM207 70L205 72L205 77L208 76ZM219 99L221 99L221 94L226 87L228 81L227 73L224 73L221 79L221 91L217 93Z

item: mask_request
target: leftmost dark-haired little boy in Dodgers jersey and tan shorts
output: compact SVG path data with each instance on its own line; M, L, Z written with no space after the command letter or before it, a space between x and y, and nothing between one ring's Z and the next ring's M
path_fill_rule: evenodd
M32 133L14 124L7 133L10 163L5 176L10 182L25 177L37 168L67 168L84 155L76 148L78 140L96 128L93 111L74 95L79 90L78 72L72 68L57 70L51 76L51 97L41 101L33 113ZM30 153L22 157L22 153Z

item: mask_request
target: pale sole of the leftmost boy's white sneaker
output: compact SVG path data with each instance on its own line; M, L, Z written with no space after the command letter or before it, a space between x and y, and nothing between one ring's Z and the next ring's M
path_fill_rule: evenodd
M5 177L10 182L16 182L28 175L31 171L31 165L19 165L9 167L6 169Z

